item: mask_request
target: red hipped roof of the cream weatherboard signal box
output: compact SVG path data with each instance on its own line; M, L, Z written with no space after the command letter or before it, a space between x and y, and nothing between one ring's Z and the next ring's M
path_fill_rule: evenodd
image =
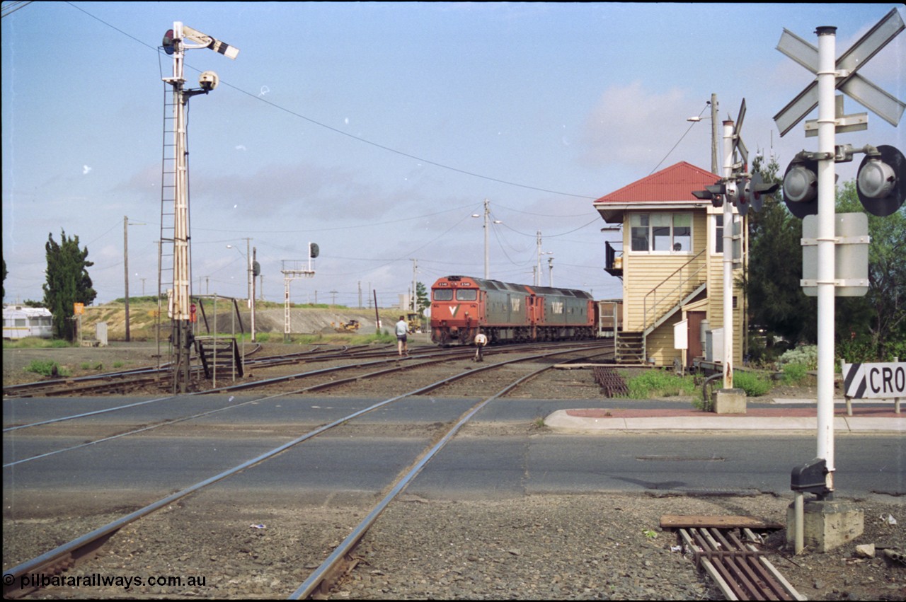
M613 191L594 201L598 203L676 203L700 199L692 195L693 190L704 190L718 181L707 169L695 167L685 161L661 169L659 172L643 177L628 186Z

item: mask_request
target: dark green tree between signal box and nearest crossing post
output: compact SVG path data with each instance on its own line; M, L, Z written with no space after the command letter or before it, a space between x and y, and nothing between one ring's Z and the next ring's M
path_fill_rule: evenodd
M765 182L780 182L779 165L771 158L755 158L752 171ZM790 214L778 191L766 196L759 212L748 213L748 270L743 290L748 300L749 323L766 329L769 336L780 336L795 343L814 343L817 324L808 320L817 313L817 301L807 297L802 279L802 220Z

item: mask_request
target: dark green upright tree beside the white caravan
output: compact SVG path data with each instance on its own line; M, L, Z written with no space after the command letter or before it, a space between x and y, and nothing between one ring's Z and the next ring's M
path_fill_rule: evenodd
M88 275L88 268L94 263L87 260L87 247L79 249L79 237L68 238L63 230L60 244L53 240L53 234L48 234L44 250L47 252L44 307L53 313L53 335L72 340L68 324L75 313L73 303L91 305L97 296Z

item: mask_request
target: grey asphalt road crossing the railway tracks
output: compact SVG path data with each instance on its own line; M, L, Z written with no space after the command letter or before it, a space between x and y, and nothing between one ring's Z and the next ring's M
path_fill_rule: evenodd
M4 424L8 428L136 401L6 400ZM6 432L4 463L82 445L99 438L96 434L110 436L243 401L248 398L188 397ZM140 435L6 465L5 506L21 509L23 504L61 495L91 505L99 491L107 493L103 498L108 500L116 499L118 491L140 493L142 499L162 497L374 401L336 397L255 401ZM216 486L236 492L297 492L312 502L336 492L371 496L425 449L437 433L438 427L432 425L455 420L474 402L438 397L400 400L364 416L357 427L314 437ZM408 492L452 499L545 492L789 495L790 471L815 455L815 435L809 433L563 434L531 428L537 417L556 409L607 403L501 400L492 404L476 416L480 424L455 437ZM651 406L652 402L640 403ZM622 407L631 405L620 400ZM79 430L73 435L75 427ZM353 437L355 444L351 445ZM901 435L837 436L835 458L838 494L906 494L906 446ZM97 500L98 504L110 503Z

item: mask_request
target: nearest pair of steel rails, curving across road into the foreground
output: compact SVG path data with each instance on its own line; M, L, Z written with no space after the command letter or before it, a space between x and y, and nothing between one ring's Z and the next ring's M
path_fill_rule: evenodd
M157 502L152 502L151 504L146 505L145 507L141 508L139 511L130 512L129 514L126 514L115 521L111 521L110 523L108 523L98 529L92 530L91 532L86 533L86 534L82 535L81 537L71 540L68 543L58 546L55 549L51 549L47 552L44 552L43 554L40 554L39 556L37 556L33 559L21 562L20 564L16 565L13 568L5 570L5 576L9 576L8 578L5 578L5 590L4 590L5 597L21 596L24 593L27 593L22 588L15 588L15 587L7 588L7 583L21 583L21 579L24 576L27 576L29 574L37 574L37 573L59 574L60 572L62 572L64 570L71 569L72 566L77 561L79 561L79 559L82 559L85 556L93 555L95 553L95 551L103 544L104 541L110 539L110 537L114 533L116 533L118 530L120 530L125 525L130 524L133 521L138 521L141 518L144 518L144 517L148 516L150 513L154 512L154 511L158 511L161 508L172 507L172 505L175 502L178 502L180 499L182 499L194 492L198 492L199 490L204 489L214 483L221 482L221 481L227 479L228 477L235 475L236 473L246 472L247 470L255 467L255 465L258 465L260 463L265 463L266 461L274 458L275 456L277 456L279 454L286 453L288 450L290 450L291 448L294 448L298 444L302 444L303 442L308 441L308 440L312 439L313 437L316 437L317 435L322 435L323 433L326 433L341 425L347 425L359 416L363 416L363 415L365 415L373 410L376 410L378 408L381 408L383 406L388 406L396 401L399 401L402 398L412 397L412 396L422 396L422 395L428 394L431 391L437 390L440 387L445 387L449 383L457 381L459 379L474 377L478 374L483 374L485 372L494 371L497 368L502 368L502 367L520 363L520 362L532 362L532 361L542 361L542 360L546 361L549 358L560 358L561 356L564 356L567 354L573 354L573 355L578 356L578 358L584 359L584 358L588 358L590 355L595 355L595 354L600 355L602 353L609 353L609 352L610 351L605 351L604 349L594 349L592 346L583 346L582 348L578 348L578 349L577 348L572 348L572 349L571 348L567 348L567 349L561 348L559 350L546 351L544 353L537 353L537 354L531 355L531 356L506 359L501 362L487 363L481 367L470 368L466 371L463 371L458 374L455 374L455 375L452 375L449 377L445 377L436 382L430 383L427 386L419 387L416 389L411 389L407 392L401 393L398 396L384 399L381 402L378 402L376 404L363 408L360 411L352 413L349 416L344 416L341 419L335 420L329 424L322 425L318 428L315 428L315 429L305 433L304 435L295 437L292 441L289 441L285 444L275 447L274 449L266 452L265 454L259 454L244 463L234 466L233 468L231 468L229 470L226 470L221 473L217 473L201 482L198 482L189 487L183 488L178 492L172 493L164 498L159 499ZM528 374L524 374L524 375L516 378L510 384L508 384L506 387L504 387L503 389L496 392L494 395L492 395L490 397L486 397L485 399L483 399L482 401L477 403L464 416L462 416L456 422L455 425L452 425L448 429L446 429L445 433L443 435L439 436L439 440L436 443L431 444L428 449L426 449L422 454L419 454L419 456L410 465L410 468L406 472L405 475L403 475L395 483L392 483L388 486L387 495L384 497L384 499L381 501L381 503L369 513L369 516L372 517L371 521L373 522L373 520L376 519L377 516L380 515L383 508L386 508L386 505L388 503L390 503L390 501L397 494L399 494L399 492L401 492L403 489L405 489L406 485L408 483L410 483L411 479L414 478L414 476L416 474L419 473L419 471L425 465L425 463L428 463L429 460L435 454L439 453L439 451L443 447L443 445L446 444L453 436L455 436L457 434L458 430L462 427L462 425L465 425L467 423L467 421L472 416L474 416L481 407L486 406L487 404L489 404L493 400L495 400L497 397L504 395L507 391L510 391L515 387L518 387L520 384L524 383L526 380L528 380L532 377L535 377L537 374L545 371L546 369L552 368L553 365L554 364L552 362L546 363L541 368L535 368L535 369L531 370ZM436 437L436 439L437 438L438 437ZM367 531L367 529L368 529L367 525L361 526L359 529L357 529L357 532L364 533L365 531ZM359 537L361 538L361 534ZM353 538L353 539L358 540L359 538ZM351 541L352 540L347 538L347 540L344 541L343 545L348 549ZM348 551L340 552L339 556L342 557L347 553L348 553ZM326 578L326 575L328 575L329 573L333 573L335 571L335 569L325 569L325 567L327 567L327 565L329 565L329 564L333 565L333 562L334 562L333 557L336 555L337 555L337 553L334 553L330 557L328 557L328 559L323 561L321 567L319 567L319 569L317 571L315 571L315 573L313 573L313 577L306 579L304 581L303 585L300 586L299 590L297 590L296 596L307 595L307 594L303 593L305 590L309 590L309 589L313 590L313 588L323 588L323 583Z

